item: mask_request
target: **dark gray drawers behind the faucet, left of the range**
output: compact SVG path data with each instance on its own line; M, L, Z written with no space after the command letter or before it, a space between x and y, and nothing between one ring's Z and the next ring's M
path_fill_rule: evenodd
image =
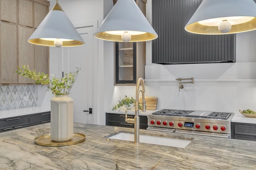
M134 117L134 115L127 115L127 116L128 118ZM106 125L134 128L133 123L127 123L125 121L124 114L116 114L116 113L106 113ZM140 116L140 129L147 129L147 127L148 127L148 117Z

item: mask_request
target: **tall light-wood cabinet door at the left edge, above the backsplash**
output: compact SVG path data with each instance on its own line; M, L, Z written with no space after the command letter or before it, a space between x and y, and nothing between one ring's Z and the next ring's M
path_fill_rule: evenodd
M0 83L17 83L18 26L0 22Z

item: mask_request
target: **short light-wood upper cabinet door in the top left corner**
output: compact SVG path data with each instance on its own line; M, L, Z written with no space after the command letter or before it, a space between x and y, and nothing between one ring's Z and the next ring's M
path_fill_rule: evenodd
M0 0L0 20L17 23L17 0Z

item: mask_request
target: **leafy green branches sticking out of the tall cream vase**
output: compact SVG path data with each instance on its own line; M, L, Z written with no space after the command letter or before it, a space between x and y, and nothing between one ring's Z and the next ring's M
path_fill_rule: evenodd
M65 73L65 76L62 78L56 78L56 75L52 75L53 78L50 79L48 74L44 74L43 72L36 73L36 70L30 70L28 66L19 67L16 71L18 74L28 77L35 81L36 84L42 84L47 86L46 91L52 91L52 94L55 95L68 95L70 94L70 90L76 80L76 77L81 68L77 68L76 71Z

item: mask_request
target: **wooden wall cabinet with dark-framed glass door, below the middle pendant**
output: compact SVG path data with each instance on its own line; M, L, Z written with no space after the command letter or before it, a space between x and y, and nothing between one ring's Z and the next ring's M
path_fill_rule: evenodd
M135 85L145 77L145 42L115 42L114 85Z

